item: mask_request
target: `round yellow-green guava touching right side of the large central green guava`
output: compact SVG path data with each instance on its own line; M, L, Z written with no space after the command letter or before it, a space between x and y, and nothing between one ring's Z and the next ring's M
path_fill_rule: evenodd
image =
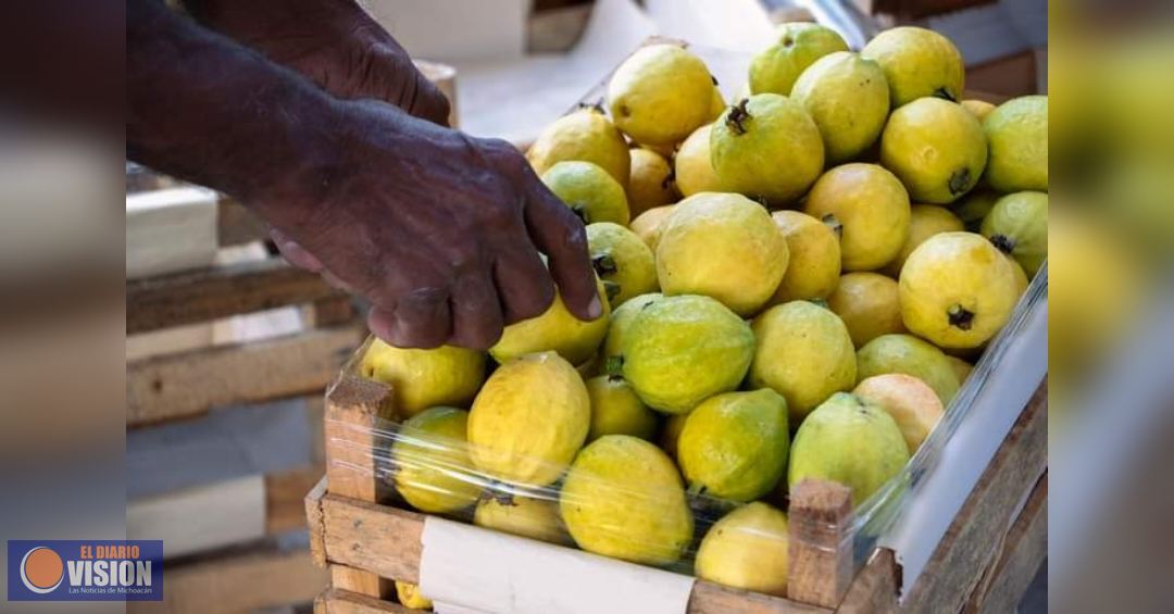
M754 319L757 346L750 385L787 399L791 424L834 392L856 384L856 349L831 310L807 301L776 305Z

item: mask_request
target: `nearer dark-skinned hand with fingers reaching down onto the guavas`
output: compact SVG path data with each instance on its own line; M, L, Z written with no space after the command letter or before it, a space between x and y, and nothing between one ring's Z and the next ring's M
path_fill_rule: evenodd
M371 299L378 337L487 349L551 305L552 277L576 317L602 313L582 223L510 143L369 101L336 107L301 156L317 163L250 203L291 262Z

